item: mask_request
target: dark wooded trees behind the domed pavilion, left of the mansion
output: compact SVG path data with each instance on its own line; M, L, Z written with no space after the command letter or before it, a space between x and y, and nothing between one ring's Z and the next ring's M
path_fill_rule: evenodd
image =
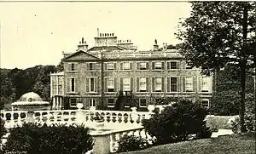
M49 101L49 73L58 70L58 67L55 66L34 66L25 70L1 69L0 108L20 99L22 94L30 91L38 93L43 100Z

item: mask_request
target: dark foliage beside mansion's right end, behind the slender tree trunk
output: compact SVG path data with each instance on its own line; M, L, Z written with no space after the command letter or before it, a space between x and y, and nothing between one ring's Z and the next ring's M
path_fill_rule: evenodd
M218 116L233 116L239 114L239 75L235 65L227 65L218 71L218 91L213 95L210 113ZM253 101L253 77L247 73L246 106Z

